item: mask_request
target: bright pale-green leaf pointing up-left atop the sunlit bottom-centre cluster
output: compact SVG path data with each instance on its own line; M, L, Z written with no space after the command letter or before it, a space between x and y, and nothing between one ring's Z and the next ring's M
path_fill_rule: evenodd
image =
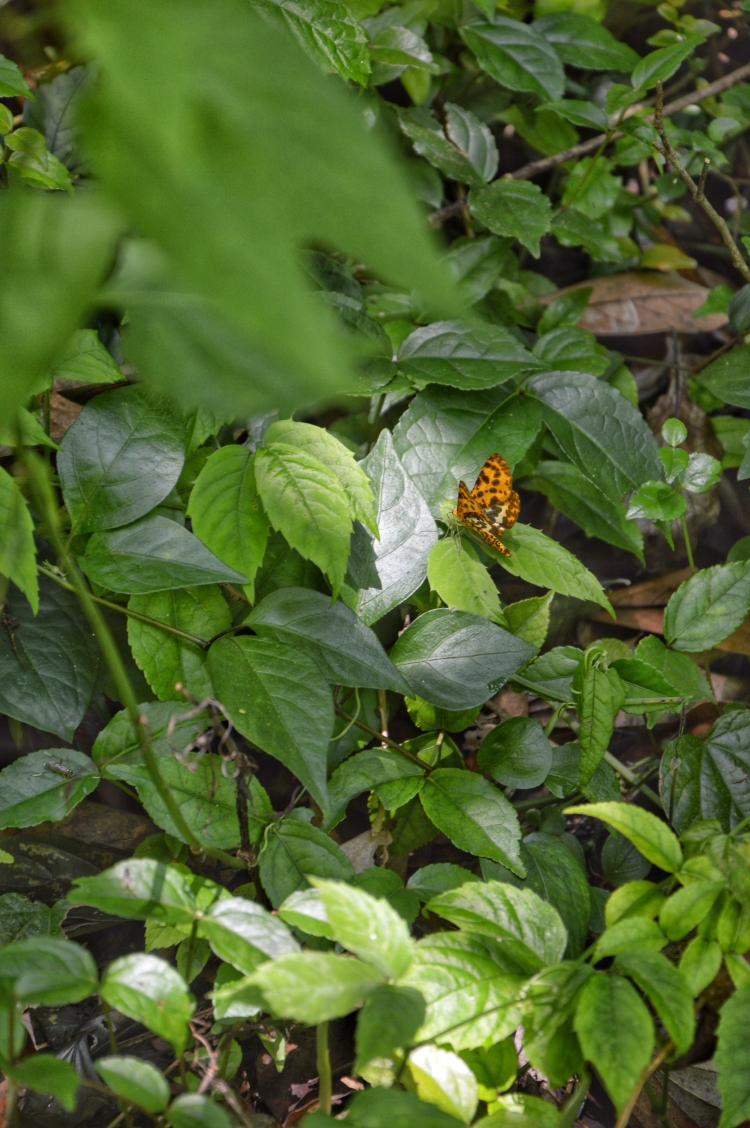
M334 938L388 979L406 975L414 942L406 922L388 901L343 882L312 880Z

